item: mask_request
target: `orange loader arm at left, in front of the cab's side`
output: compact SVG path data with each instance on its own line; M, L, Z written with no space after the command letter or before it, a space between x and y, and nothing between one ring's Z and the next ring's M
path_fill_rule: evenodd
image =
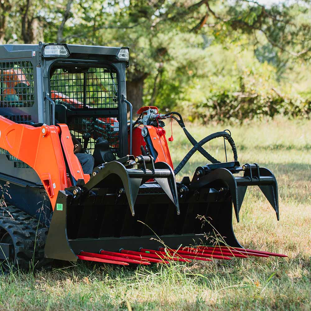
M44 124L36 128L0 116L0 147L35 170L53 210L58 191L71 186L67 179L64 156L74 179L83 179L85 183L90 179L90 175L83 174L81 164L73 153L73 143L66 124Z

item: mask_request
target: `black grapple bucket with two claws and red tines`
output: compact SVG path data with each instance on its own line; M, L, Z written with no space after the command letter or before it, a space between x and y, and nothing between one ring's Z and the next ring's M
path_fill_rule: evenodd
M176 183L170 166L150 156L106 163L88 183L58 193L45 255L120 265L281 256L244 249L235 238L232 206L239 221L254 185L279 217L276 179L257 164L201 166L192 181Z

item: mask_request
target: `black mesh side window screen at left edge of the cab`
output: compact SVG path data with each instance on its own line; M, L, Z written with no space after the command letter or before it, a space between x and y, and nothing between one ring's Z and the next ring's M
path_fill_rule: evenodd
M0 63L0 107L32 107L35 103L30 61Z

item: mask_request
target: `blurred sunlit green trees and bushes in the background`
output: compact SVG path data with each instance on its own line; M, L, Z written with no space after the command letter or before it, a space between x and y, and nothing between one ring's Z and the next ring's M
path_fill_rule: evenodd
M309 117L309 1L2 0L0 42L130 46L134 109L190 119ZM295 81L295 83L293 83Z

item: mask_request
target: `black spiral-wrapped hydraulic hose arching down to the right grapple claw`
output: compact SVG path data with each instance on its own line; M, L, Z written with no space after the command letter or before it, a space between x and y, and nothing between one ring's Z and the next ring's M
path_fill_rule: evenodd
M185 164L188 162L188 160L193 156L193 154L198 150L200 146L203 146L207 142L218 137L225 137L228 140L233 151L234 161L238 161L238 153L236 151L235 143L231 135L228 132L216 132L203 138L195 146L193 146L193 148L186 154L186 156L179 163L179 165L174 169L174 174L176 175L180 172L180 170L185 166Z

